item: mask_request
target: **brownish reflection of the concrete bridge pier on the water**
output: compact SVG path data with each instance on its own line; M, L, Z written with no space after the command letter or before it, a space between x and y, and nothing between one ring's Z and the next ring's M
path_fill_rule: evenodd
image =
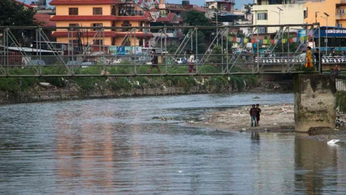
M338 154L326 142L302 139L295 143L295 191L302 194L336 193L338 185ZM343 189L344 192L345 186ZM338 194L342 193L339 191Z

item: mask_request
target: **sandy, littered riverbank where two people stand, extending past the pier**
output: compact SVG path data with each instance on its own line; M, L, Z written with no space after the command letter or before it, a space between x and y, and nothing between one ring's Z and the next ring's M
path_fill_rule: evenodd
M251 127L249 116L250 106L230 108L222 111L210 111L203 116L204 120L193 122L192 125L204 126L221 131L268 131L268 132L294 132L294 106L293 104L262 105L259 127ZM346 121L346 114L338 113L340 121ZM191 122L190 122L191 123ZM307 133L296 133L304 139L329 141L332 139L346 140L346 127L338 130L316 128Z

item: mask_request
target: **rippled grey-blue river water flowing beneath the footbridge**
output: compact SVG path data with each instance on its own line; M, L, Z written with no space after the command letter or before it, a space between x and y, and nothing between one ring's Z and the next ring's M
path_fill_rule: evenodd
M292 94L0 106L0 194L346 194L344 144L184 122L204 110L287 102Z

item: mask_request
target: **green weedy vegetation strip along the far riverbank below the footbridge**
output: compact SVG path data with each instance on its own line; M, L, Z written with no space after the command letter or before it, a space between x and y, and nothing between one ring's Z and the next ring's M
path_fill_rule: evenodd
M109 74L133 74L134 66L128 66L129 62L122 62L116 66L105 67ZM186 73L186 65L168 66L170 74ZM103 65L90 66L86 68L70 68L75 74L100 75ZM220 72L222 67L216 65L203 65L199 67L199 72ZM26 69L10 69L10 74L33 75L38 67ZM160 67L161 72L165 72L165 66ZM139 65L136 67L139 74L146 74L149 66ZM42 75L69 74L64 67L43 67ZM153 73L157 73L153 69ZM193 86L199 86L201 90L208 92L244 91L255 87L257 76L157 76L157 77L23 77L23 78L0 78L0 91L42 91L42 90L82 90L84 92L93 91L130 91L133 88L164 88L183 87L186 91ZM43 88L40 82L50 83L51 87Z

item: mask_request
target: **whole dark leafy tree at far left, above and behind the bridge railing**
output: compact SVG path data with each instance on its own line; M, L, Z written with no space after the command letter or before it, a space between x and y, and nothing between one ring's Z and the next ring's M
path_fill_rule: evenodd
M36 11L12 0L0 0L0 26L37 26L34 21ZM0 32L2 33L2 32ZM34 32L30 29L11 30L19 44L27 46L31 42ZM9 38L9 45L14 43Z

